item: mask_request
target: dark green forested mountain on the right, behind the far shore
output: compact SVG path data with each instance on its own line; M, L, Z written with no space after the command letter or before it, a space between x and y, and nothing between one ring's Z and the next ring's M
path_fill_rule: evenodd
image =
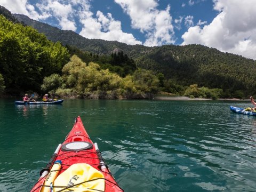
M223 97L255 93L256 61L202 45L165 45L137 59L137 66L161 72L180 85L225 91Z

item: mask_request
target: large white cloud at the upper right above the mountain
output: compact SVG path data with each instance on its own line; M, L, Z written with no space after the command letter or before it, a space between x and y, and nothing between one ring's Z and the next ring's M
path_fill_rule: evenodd
M190 27L182 35L185 44L202 44L223 52L256 59L255 0L213 0L217 17L209 25Z

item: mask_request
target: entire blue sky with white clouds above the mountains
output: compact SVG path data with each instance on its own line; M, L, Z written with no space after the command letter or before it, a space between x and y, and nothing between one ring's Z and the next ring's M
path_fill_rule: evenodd
M90 39L201 44L256 60L256 0L0 0L0 5Z

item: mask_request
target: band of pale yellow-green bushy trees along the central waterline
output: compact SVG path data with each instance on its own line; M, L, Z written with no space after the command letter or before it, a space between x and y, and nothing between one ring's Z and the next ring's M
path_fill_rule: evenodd
M98 63L85 63L77 55L63 67L62 76L44 78L42 89L66 97L90 99L147 99L158 91L159 80L153 71L137 69L124 78Z

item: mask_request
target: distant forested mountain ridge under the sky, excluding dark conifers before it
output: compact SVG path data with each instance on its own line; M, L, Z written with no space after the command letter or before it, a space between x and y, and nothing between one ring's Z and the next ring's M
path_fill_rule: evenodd
M226 97L239 94L256 94L256 61L241 55L224 53L203 45L163 45L146 47L127 45L117 41L87 39L74 31L61 30L46 23L35 21L25 15L13 14L20 22L44 33L53 42L75 46L94 54L111 54L123 51L132 57L137 67L163 73L175 84L189 86L198 84L220 88Z

